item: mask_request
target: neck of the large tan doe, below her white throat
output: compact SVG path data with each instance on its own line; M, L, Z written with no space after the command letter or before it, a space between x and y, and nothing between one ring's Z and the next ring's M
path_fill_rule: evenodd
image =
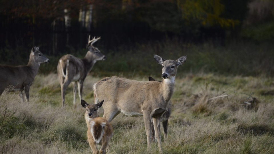
M163 79L161 83L161 90L164 100L168 102L174 92L175 76L167 79Z

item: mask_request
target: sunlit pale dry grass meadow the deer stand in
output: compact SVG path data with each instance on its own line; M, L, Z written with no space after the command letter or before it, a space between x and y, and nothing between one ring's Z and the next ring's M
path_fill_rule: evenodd
M152 77L160 80L160 74ZM99 79L90 75L84 82L83 98L88 103L93 103L92 85ZM146 81L148 76L133 79ZM214 98L221 95L228 96ZM163 152L274 153L273 95L274 78L267 76L177 77L166 141L162 133ZM0 153L92 153L86 141L85 110L78 95L73 108L72 96L70 85L61 108L56 74L36 76L28 104L21 102L18 92L0 96ZM109 153L146 153L142 117L119 114L112 125ZM148 153L159 153L156 142Z

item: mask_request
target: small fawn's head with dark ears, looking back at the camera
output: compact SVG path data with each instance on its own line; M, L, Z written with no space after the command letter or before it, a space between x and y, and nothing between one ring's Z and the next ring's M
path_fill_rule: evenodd
M103 105L104 100L98 104L88 104L86 101L81 100L82 107L86 108L85 116L89 118L98 117L98 108Z

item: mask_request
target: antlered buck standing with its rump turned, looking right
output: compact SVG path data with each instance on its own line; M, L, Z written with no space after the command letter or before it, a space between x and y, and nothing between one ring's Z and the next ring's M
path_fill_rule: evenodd
M78 82L78 94L81 100L83 83L87 74L91 71L96 61L106 59L106 56L103 55L98 48L92 45L99 39L100 37L94 37L90 40L90 36L88 37L88 52L83 59L72 56L71 54L66 54L60 58L57 66L57 73L61 85L62 106L65 105L65 92L70 82L73 84L73 104L75 107L76 83Z

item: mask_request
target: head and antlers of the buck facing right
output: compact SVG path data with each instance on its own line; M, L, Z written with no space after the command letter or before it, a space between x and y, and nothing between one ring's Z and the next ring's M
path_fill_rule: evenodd
M100 40L101 37L93 38L90 40L90 36L88 37L88 44L86 45L86 48L88 49L88 52L86 53L86 56L92 57L94 60L106 60L106 56L102 54L102 52L94 47L92 44L94 44L97 40Z

